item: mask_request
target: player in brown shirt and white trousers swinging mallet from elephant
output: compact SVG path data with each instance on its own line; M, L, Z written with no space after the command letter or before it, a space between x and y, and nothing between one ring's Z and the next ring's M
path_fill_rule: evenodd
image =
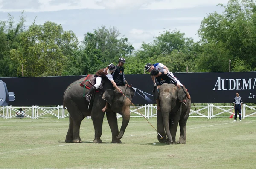
M96 76L96 83L95 85L90 88L90 90L88 91L88 93L86 95L84 95L84 97L86 98L86 100L88 102L90 102L90 95L99 88L102 79L103 80L109 80L111 81L111 83L113 84L113 87L116 88L116 90L118 90L119 92L122 92L122 90L117 87L114 79L113 79L113 75L112 73L115 72L116 70L116 66L111 63L108 67L104 68L104 69L100 69L96 72L95 76ZM105 110L107 109L108 103L106 103L106 106L102 109L103 112L105 112Z

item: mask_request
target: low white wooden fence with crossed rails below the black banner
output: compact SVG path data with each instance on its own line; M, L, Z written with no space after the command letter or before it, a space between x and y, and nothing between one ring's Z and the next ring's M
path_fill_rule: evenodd
M22 108L23 112L18 109ZM131 117L156 117L157 107L148 104L144 106L130 107ZM142 114L140 114L142 113ZM246 117L256 117L256 106L243 105L241 110L242 118ZM24 117L17 117L18 114L22 114ZM215 106L213 104L208 104L206 106L191 106L190 117L206 117L208 119L217 117L230 117L233 114L233 106ZM62 105L57 107L40 107L40 106L25 106L25 107L15 107L15 106L2 106L0 107L0 118L58 118L63 119L69 117L67 109L63 109ZM117 118L122 116L117 114ZM89 119L90 117L87 117Z

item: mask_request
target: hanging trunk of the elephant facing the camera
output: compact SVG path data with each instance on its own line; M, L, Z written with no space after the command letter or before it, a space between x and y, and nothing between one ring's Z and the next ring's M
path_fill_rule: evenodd
M170 126L169 126L169 114L170 114L170 110L171 110L171 106L162 106L161 105L161 111L162 111L162 116L163 116L163 125L164 125L164 129L166 131L166 135L167 135L167 141L166 143L172 143L172 135L170 132Z

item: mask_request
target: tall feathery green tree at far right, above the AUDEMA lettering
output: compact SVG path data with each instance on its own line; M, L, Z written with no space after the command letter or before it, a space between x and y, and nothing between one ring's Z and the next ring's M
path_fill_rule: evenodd
M231 64L232 71L256 70L256 4L254 0L230 0L222 14L209 14L201 23L198 34L203 46L210 46L208 53L214 52L209 71L218 69L228 71L227 66L221 66L224 60L236 60L243 66ZM217 50L213 51L212 49ZM201 56L201 60L205 56ZM221 66L221 69L218 68ZM236 67L235 67L236 66Z

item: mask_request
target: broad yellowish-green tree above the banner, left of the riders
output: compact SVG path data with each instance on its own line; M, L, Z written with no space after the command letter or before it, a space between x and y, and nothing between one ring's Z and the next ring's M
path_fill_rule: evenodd
M25 76L56 76L67 69L78 40L61 25L45 22L29 26L20 36L21 47L11 50L12 60L24 65Z

